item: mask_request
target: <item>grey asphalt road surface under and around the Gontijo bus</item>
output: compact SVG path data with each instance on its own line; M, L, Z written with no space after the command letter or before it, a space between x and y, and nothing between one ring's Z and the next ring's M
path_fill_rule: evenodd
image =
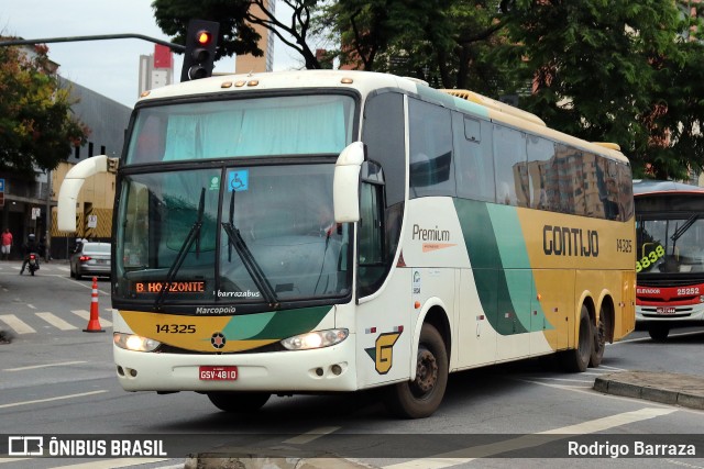
M19 265L0 263L0 327L9 327L6 320L15 316L31 328L15 331L11 344L0 345L0 445L11 431L157 437L179 448L165 457L141 459L0 456L0 469L184 467L189 453L233 455L243 448L263 448L267 456L283 450L288 456L285 461L296 464L310 451L322 450L345 465L352 460L389 469L513 468L517 461L509 456L521 458L521 467L540 468L704 467L704 443L700 445L704 412L593 389L600 377L637 370L704 376L703 328L675 330L664 344L636 332L608 345L603 365L585 373L564 373L546 360L455 373L438 413L419 421L392 418L374 392L275 397L260 413L238 416L217 411L204 395L127 393L119 387L111 357L107 280L98 282L106 333L85 333L87 320L77 311L90 308L90 280L70 279L68 266L61 264L43 266L33 278L18 272ZM185 442L168 436L173 434L185 436ZM575 444L610 442L629 448L636 438L667 444L684 435L695 438L700 453L694 458L566 458L571 435L581 435L574 436ZM553 439L536 439L546 437ZM334 464L343 462L334 459Z

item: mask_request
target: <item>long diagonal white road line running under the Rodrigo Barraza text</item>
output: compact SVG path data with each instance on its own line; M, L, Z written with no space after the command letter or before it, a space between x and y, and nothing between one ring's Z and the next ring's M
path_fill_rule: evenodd
M384 466L384 469L442 469L450 466L466 464L477 458L491 458L492 456L501 455L506 451L532 448L550 442L574 437L575 435L604 432L617 426L668 415L675 411L676 409L644 407L638 411L624 412L622 414L609 415L607 417L582 422L575 425L568 425L561 428L524 435L505 442L468 447L440 455L433 455L429 458L414 459L410 461ZM472 456L466 457L466 455Z

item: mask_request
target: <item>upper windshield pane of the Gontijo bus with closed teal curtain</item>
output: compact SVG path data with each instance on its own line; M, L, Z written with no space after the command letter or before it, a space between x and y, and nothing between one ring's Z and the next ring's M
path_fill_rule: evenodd
M353 110L343 94L144 107L124 164L339 154L352 142Z

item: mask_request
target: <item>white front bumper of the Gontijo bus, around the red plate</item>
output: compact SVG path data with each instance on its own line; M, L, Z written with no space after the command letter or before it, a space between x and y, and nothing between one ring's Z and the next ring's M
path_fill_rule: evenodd
M160 354L113 345L125 391L355 391L354 335L319 349L260 354ZM200 367L237 367L237 378L200 379Z

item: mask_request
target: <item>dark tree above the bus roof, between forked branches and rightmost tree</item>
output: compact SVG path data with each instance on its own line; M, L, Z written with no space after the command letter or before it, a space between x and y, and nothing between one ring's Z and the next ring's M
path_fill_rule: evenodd
M443 88L498 93L503 76L487 60L502 41L498 0L345 0L320 16L342 44L341 62L425 79Z

